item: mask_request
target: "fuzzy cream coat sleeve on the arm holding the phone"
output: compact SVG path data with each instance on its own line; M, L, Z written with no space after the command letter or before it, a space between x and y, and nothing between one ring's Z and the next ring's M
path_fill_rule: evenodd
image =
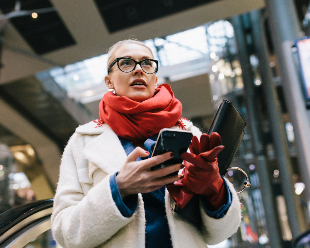
M74 134L62 156L51 228L55 240L63 248L91 248L110 239L136 213L126 218L118 210L110 189L111 175L84 195L72 151L76 142L77 134Z

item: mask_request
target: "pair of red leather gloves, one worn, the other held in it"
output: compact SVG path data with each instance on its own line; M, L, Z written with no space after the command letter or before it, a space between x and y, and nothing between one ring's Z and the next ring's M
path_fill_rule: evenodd
M184 177L166 187L180 208L196 193L205 196L213 210L217 210L227 199L225 184L217 164L217 155L224 149L221 137L215 132L210 137L202 134L199 142L193 136L189 149L191 153L181 154L185 166L182 171Z

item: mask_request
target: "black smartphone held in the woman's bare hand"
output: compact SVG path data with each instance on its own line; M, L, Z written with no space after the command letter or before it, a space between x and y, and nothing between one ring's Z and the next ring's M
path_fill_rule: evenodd
M187 151L192 138L193 134L189 131L163 128L158 134L152 157L166 152L174 152L174 157L151 167L151 170L158 170L170 165L182 163L183 159L180 157L180 154ZM176 174L178 174L178 171L169 175Z

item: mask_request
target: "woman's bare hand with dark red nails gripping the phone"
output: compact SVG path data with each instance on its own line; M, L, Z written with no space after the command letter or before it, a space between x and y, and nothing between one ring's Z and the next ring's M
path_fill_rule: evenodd
M117 187L122 198L137 193L149 193L161 188L165 184L170 184L179 180L182 176L166 175L180 170L184 167L183 164L175 164L158 170L151 170L152 166L173 157L172 152L136 161L139 156L146 157L148 155L149 153L141 147L135 148L135 150L128 155L125 163L116 176Z

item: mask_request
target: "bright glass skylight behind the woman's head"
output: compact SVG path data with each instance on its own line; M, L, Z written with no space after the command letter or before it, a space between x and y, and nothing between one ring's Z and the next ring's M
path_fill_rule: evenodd
M158 84L208 72L210 53L224 51L234 36L232 25L225 20L203 24L193 29L162 38L144 41L159 61ZM101 98L107 92L107 54L56 67L49 71L69 97L86 103ZM98 95L98 96L96 96Z

